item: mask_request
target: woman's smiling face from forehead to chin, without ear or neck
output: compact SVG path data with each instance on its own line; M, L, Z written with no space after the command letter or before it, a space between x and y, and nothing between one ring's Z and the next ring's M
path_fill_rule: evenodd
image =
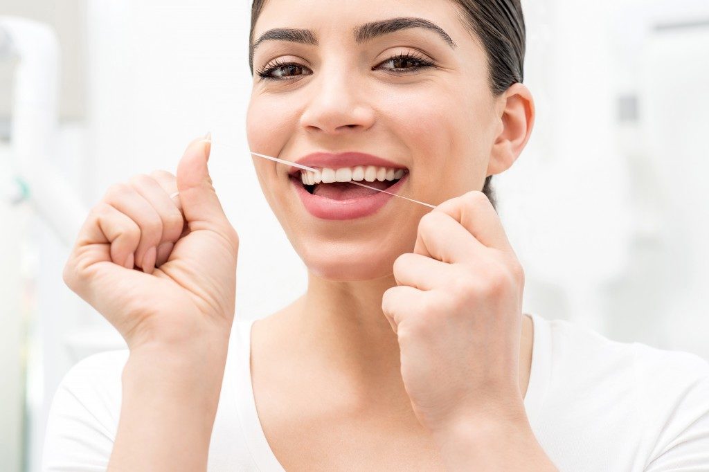
M453 1L267 1L255 44L276 28L301 31L269 34L279 39L255 47L250 150L306 158L303 164L333 169L337 179L350 178L337 169L350 169L354 179L364 171L362 184L378 188L396 181L370 183L379 167L403 169L394 172L403 176L391 192L432 205L481 190L501 122L484 50L463 18ZM307 158L316 152L325 154ZM325 279L389 276L430 211L354 184L306 188L299 172L289 175L298 169L253 159L291 244ZM325 180L331 175L322 172Z

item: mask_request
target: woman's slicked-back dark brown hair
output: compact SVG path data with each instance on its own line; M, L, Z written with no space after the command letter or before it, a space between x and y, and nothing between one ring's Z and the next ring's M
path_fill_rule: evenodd
M511 85L523 82L525 62L525 19L520 0L450 0L459 7L464 24L479 38L487 55L490 89L495 96ZM249 69L254 73L254 26L267 0L254 0L249 33ZM483 193L496 206L492 176L487 176Z

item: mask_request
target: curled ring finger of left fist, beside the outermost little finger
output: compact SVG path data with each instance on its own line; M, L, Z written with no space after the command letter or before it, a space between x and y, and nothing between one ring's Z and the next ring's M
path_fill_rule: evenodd
M138 243L138 249L135 250L135 265L143 271L152 271L150 265L155 264L157 245L162 237L160 215L138 191L128 184L111 186L106 192L104 201L127 215L140 227L140 243ZM152 251L152 248L156 248L155 252Z

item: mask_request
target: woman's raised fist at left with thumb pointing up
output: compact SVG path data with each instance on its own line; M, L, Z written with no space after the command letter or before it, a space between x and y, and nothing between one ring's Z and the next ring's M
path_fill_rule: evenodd
M239 240L213 189L209 152L208 143L194 140L177 176L156 171L111 186L65 265L67 286L131 350L193 339L228 342Z

